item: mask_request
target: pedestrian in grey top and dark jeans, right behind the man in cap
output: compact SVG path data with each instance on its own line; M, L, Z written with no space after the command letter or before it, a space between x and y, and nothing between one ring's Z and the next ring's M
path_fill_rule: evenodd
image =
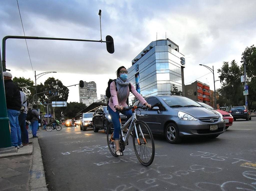
M23 146L28 145L28 130L26 128L26 118L28 113L28 107L27 107L27 97L22 91L21 88L19 88L20 92L20 99L21 99L21 111L19 114L19 126L20 126L20 137Z

